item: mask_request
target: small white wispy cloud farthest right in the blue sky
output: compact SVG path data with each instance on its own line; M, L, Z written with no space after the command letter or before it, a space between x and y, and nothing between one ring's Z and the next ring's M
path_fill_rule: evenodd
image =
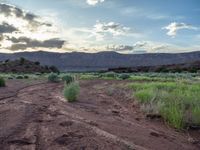
M186 23L172 22L168 26L163 27L162 29L168 30L167 35L175 37L177 35L178 30L182 29L196 30L197 27L194 27Z

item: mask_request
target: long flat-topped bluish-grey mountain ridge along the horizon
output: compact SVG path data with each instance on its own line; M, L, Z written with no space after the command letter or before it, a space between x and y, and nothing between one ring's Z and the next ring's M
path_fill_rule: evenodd
M44 51L14 54L0 53L0 61L6 59L15 60L20 57L31 61L39 61L42 65L54 65L62 71L97 71L108 68L160 66L200 61L200 51L176 54L120 54L116 52L53 53Z

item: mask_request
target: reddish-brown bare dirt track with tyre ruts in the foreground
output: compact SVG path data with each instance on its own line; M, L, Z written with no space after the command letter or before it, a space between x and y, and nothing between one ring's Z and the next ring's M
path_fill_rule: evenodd
M63 84L9 83L0 89L0 150L200 149L187 134L146 120L128 90L110 88L120 84L81 81L78 102L67 103Z

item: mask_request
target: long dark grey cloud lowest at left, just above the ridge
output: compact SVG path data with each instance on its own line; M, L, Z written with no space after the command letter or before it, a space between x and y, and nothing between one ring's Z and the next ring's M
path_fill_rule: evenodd
M27 48L62 48L65 41L60 39L49 39L45 41L38 41L33 40L27 37L20 37L20 38L10 38L14 44L11 46L10 50L25 50Z

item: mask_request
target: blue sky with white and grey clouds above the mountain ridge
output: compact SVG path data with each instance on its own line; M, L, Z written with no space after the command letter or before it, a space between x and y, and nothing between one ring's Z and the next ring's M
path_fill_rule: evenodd
M0 0L0 52L200 50L199 0Z

